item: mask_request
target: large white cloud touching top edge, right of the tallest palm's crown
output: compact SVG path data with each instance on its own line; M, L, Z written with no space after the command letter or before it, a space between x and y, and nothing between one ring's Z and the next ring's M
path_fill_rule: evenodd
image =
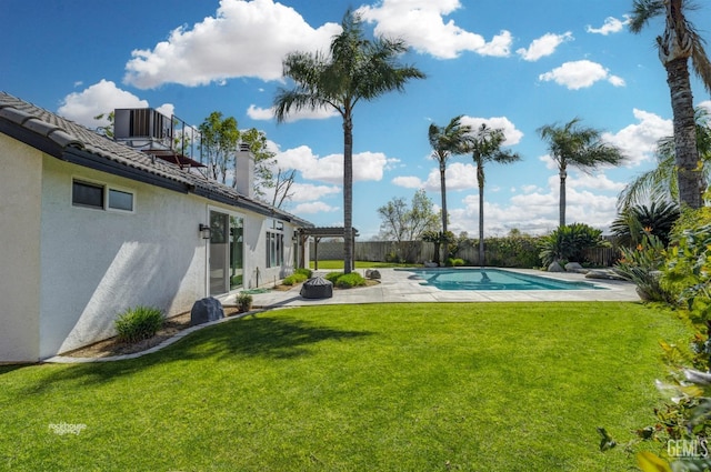
M439 59L454 59L471 51L481 56L507 57L511 33L501 31L487 42L481 34L465 31L444 17L461 8L459 0L382 0L358 9L363 20L375 22L375 34L404 39L414 50Z

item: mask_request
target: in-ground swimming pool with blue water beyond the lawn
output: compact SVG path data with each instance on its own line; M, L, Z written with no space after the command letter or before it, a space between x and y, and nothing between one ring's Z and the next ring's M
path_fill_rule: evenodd
M503 269L398 269L440 290L605 290L588 282L568 282Z

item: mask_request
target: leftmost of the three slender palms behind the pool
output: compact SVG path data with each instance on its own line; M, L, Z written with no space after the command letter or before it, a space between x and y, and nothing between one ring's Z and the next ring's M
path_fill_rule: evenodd
M447 161L455 154L467 153L467 145L470 139L471 127L461 123L462 116L454 117L445 127L430 124L428 139L432 147L432 158L437 160L440 168L440 192L442 195L442 233L441 238L434 240L434 262L440 261L440 242L447 239Z

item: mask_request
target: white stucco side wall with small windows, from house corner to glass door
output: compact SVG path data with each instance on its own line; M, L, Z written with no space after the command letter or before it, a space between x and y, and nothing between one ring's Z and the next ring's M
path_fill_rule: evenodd
M134 212L73 207L72 178L134 192ZM139 304L168 315L206 297L207 200L44 158L40 356L114 334Z

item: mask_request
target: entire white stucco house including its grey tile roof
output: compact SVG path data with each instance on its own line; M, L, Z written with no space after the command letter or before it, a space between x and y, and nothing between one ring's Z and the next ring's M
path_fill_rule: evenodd
M133 208L78 205L74 181L129 192ZM234 290L291 273L292 235L310 225L1 92L0 197L0 363L114 335L128 308L189 311L211 294L212 243L199 225L213 211L243 222L243 285ZM283 264L270 269L268 231L284 242Z

